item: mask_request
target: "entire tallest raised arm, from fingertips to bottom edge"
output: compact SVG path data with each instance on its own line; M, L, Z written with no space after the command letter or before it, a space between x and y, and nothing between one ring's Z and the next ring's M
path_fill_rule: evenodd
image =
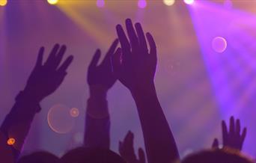
M156 96L154 75L156 72L156 44L150 33L147 42L139 23L133 28L126 20L127 39L124 29L117 25L121 49L113 57L115 75L132 93L141 121L144 144L149 163L170 163L179 158L171 129Z

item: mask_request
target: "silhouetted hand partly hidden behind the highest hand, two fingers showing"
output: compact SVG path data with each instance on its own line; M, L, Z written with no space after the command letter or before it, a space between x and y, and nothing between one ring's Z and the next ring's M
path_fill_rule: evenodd
M97 63L100 59L100 49L94 54L91 63L88 67L88 84L91 85L101 85L109 90L116 82L116 77L112 71L112 60L111 56L114 54L116 47L118 46L118 39L116 39L112 46L109 48L109 52L106 53L105 58L99 66Z

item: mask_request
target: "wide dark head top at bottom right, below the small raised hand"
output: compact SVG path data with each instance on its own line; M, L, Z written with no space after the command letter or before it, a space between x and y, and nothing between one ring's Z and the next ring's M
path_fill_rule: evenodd
M237 150L225 148L192 153L181 163L253 163L253 161Z

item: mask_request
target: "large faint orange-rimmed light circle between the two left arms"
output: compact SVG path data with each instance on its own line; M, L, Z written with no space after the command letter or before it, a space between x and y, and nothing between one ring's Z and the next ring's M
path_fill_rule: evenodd
M47 114L47 121L52 131L66 134L73 129L75 118L70 115L70 108L65 105L53 105Z

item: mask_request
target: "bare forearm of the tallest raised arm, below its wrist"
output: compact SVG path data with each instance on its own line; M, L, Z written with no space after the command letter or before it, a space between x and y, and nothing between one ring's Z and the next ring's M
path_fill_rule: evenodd
M144 135L149 163L170 163L178 159L177 147L154 86L132 92Z

